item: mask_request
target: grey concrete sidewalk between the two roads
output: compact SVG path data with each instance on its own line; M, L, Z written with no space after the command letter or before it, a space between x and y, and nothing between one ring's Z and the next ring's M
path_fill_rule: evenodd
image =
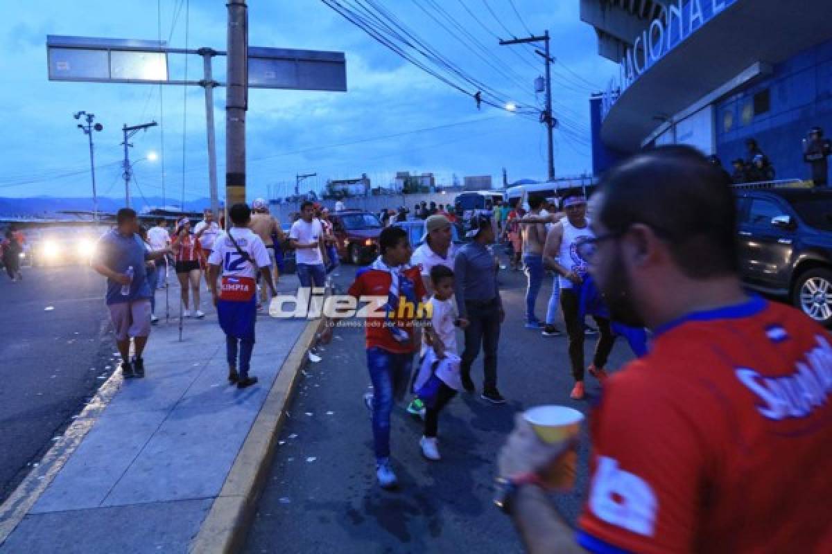
M279 288L294 293L296 277L282 277ZM178 287L170 294L171 316L178 315ZM158 297L164 314L164 293ZM225 337L213 309L206 311L204 320L184 321L182 341L174 317L153 328L145 379L124 381L116 372L102 386L109 403L93 402L61 439L83 436L86 425L77 448L47 454L0 509L0 552L188 552L232 466L244 479L258 471L262 448L254 457L238 454L247 439L269 443L283 410L270 398L273 385L288 397L315 326L259 316L251 374L260 382L239 390L226 380ZM274 405L264 420L265 404ZM264 436L252 437L259 414Z

